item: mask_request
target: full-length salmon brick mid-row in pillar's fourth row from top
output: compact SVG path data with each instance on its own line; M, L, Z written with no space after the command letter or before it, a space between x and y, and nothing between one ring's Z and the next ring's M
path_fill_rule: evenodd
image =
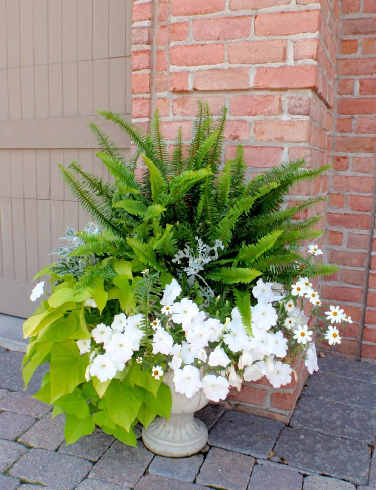
M194 90L246 90L249 70L246 68L212 69L194 73Z

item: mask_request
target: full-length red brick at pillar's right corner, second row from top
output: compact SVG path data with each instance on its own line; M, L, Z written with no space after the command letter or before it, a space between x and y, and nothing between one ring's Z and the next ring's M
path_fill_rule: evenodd
M319 28L319 10L278 12L256 15L256 36L288 36L316 32Z

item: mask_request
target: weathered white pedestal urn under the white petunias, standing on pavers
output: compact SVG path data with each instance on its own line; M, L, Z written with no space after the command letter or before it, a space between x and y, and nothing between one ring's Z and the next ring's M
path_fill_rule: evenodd
M198 453L207 443L206 425L194 413L207 405L208 400L202 388L192 398L176 393L173 372L163 377L172 396L169 419L156 417L150 426L142 430L145 446L156 454L181 458Z

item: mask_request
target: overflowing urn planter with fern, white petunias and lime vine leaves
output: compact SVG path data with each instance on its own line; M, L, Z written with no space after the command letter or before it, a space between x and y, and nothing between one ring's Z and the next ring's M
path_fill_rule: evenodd
M200 104L190 144L183 145L179 131L171 155L157 113L150 134L120 115L102 114L137 150L124 161L91 124L97 157L113 182L77 162L60 167L96 224L67 229L65 245L54 251L60 258L36 276L49 275L51 294L24 325L25 383L49 363L36 398L54 406L53 416L65 412L67 443L97 425L135 445L137 423L148 428L156 415L169 418L171 393L184 397L184 407L198 396L194 411L225 399L244 380L266 376L279 387L291 380L287 356L302 351L309 371L317 369L313 335L325 332L328 321L351 319L338 307L322 318L311 279L336 269L317 262L316 245L301 249L321 234L314 227L320 217L294 217L321 198L290 208L284 200L296 182L327 167L289 162L247 182L242 147L221 165L226 109L214 120ZM313 315L322 321L311 325ZM341 340L335 326L325 337ZM185 432L188 424L195 434L183 449L176 441L180 422L161 429L162 419L144 431L145 444L170 456L197 452L207 432L193 415L185 418Z

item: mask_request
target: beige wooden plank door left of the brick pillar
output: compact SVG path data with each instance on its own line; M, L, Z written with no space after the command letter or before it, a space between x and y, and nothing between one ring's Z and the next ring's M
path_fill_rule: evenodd
M89 217L58 164L107 178L87 122L131 112L131 0L0 0L0 312L27 316L35 273Z

